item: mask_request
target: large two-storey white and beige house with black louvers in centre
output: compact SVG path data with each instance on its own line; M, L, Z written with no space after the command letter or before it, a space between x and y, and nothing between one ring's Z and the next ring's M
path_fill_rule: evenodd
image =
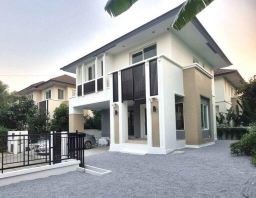
M231 65L195 17L170 30L180 6L62 67L76 73L69 131L101 110L110 151L168 153L214 143L213 69Z

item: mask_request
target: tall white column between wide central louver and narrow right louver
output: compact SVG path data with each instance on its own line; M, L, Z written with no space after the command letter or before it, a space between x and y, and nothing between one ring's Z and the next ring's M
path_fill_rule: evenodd
M152 147L152 120L151 120L151 100L150 100L149 62L148 61L145 62L145 91L146 91L147 145L149 147Z

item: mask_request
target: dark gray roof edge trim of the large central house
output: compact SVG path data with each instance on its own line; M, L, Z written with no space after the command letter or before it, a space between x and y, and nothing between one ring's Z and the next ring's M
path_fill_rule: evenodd
M137 33L140 33L141 31L144 31L148 28L150 28L151 26L171 17L171 16L174 16L178 11L179 9L181 8L183 3L181 3L179 6L167 11L166 13L150 20L149 22L139 26L138 28L136 29L133 29L132 31L122 35L121 37L105 44L104 46L86 54L85 56L61 67L60 69L62 70L65 70L81 61L84 61L90 57L93 57L95 55L98 55L104 51L106 51L107 49L110 49L112 47L114 47L116 44L120 43L121 41L123 40L126 40L127 38L129 37L132 37L134 35L136 35ZM216 53L218 53L220 55L220 57L228 64L228 65L231 65L232 63L228 60L228 58L225 56L225 54L223 53L223 51L219 48L219 46L217 45L217 43L212 39L212 37L209 35L209 33L206 31L206 29L202 26L202 24L199 22L199 20L194 17L192 20L191 20L192 24L197 28L197 30L204 36L204 38L208 41L208 43L210 44L210 46L215 50Z

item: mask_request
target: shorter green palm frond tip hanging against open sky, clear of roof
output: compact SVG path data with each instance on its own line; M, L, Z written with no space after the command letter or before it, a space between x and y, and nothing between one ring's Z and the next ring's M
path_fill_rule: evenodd
M118 16L129 9L136 1L137 0L108 0L105 5L105 11L107 11L110 16Z

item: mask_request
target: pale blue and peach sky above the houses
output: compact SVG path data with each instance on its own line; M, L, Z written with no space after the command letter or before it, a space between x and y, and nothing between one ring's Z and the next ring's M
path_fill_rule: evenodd
M70 74L59 68L183 2L138 0L111 18L106 1L1 0L0 80L12 91ZM256 74L255 10L256 0L214 0L197 15L245 80Z

